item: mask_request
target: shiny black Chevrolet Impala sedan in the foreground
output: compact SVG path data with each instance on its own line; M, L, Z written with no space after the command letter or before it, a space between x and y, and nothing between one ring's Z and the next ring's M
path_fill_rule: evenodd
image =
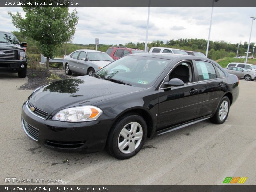
M222 124L239 81L213 60L138 53L90 76L36 89L23 104L23 129L58 150L104 148L119 159L137 154L147 137L210 119Z

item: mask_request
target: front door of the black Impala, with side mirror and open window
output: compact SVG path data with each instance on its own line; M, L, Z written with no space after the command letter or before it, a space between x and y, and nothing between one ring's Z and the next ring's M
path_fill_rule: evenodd
M165 87L165 82L168 82L173 77L178 78L178 75L182 73L182 71L180 71L181 73L178 75L176 74L178 73L176 72L176 69L180 65L189 68L189 80L185 81L183 79L183 82L185 81L184 85L180 87ZM176 76L173 76L173 74L176 74ZM181 79L182 76L179 78ZM198 105L198 82L194 80L192 61L183 61L175 65L175 68L169 72L165 77L163 84L160 86L158 96L159 112L157 129L167 128L195 118Z

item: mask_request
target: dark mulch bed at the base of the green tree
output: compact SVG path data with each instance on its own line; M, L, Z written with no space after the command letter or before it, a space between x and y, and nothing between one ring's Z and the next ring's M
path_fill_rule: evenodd
M51 68L54 70L63 70L59 68ZM27 77L28 77L28 83L20 86L20 90L31 90L31 89L36 89L37 87L40 87L42 85L48 84L57 80L47 80L47 77L50 77L51 74L47 75L46 70L37 70L37 69L27 69ZM69 77L64 76L64 75L59 75L58 76L61 79L68 79Z

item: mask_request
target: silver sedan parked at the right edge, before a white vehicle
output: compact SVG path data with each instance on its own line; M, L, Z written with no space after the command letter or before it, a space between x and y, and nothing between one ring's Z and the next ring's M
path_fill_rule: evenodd
M247 81L254 81L256 79L256 72L251 72L241 67L226 67L226 71L230 74L236 75L238 78L243 78Z

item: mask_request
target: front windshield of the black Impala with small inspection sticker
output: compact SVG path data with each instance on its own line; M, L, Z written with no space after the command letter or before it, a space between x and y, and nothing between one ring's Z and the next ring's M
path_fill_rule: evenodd
M136 87L150 87L171 62L142 56L125 56L96 72L102 79L114 79Z

